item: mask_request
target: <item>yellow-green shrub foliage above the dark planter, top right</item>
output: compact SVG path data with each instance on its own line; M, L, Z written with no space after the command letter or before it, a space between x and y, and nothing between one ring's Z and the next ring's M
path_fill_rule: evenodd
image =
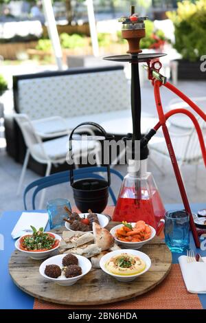
M181 1L176 12L167 14L174 23L174 48L185 60L199 60L206 54L206 0Z

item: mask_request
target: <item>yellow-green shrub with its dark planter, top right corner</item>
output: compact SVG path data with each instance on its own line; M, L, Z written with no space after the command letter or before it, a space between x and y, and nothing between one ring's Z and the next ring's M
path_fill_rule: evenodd
M174 23L174 48L182 56L178 60L178 78L205 80L201 56L206 54L206 0L182 1L176 12L168 12Z

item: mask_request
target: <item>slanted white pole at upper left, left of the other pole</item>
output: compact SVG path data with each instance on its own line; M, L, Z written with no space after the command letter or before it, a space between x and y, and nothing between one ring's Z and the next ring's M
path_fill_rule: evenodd
M61 49L60 40L58 37L58 30L56 27L54 10L52 8L51 0L43 0L43 10L45 13L45 19L47 21L49 38L52 41L54 56L56 58L56 65L58 66L59 70L62 70L62 49Z

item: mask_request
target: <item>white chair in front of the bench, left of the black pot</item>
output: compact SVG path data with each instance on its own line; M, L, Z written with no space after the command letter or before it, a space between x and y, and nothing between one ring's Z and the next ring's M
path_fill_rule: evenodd
M54 139L54 137L56 137L57 135L62 135L62 132L51 133L50 135L48 133L47 135L45 135L45 133L42 133L43 137L53 138L47 140L46 142L43 142L42 136L34 129L34 124L32 124L27 115L16 113L14 115L14 118L17 124L19 124L25 140L25 144L27 146L23 168L21 170L21 176L19 179L19 186L17 188L17 194L19 194L23 184L23 179L25 177L25 170L27 168L30 155L39 163L47 165L45 176L48 176L50 174L52 164L63 164L67 160L67 153L69 151L69 130L65 129L65 133L67 133L67 135L58 137L56 139ZM100 165L100 144L98 142L95 142L93 140L88 142L73 140L74 161L76 161L80 156L88 155L88 153L93 153L93 155L95 155L97 164ZM41 196L40 208L42 208L43 206L44 194L45 191Z

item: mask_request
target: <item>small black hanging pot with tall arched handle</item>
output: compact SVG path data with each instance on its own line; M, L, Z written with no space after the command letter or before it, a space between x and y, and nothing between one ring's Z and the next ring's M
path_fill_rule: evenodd
M71 134L69 136L70 154L72 154L72 140L73 140L74 131L76 131L76 129L78 129L80 126L86 126L86 125L94 126L103 135L103 137L89 136L91 137L91 140L98 140L101 142L102 140L111 140L114 137L114 136L108 135L106 131L102 128L102 126L100 126L100 124L96 124L95 122L82 122L71 131ZM108 203L108 188L111 184L111 174L110 174L109 164L106 165L106 168L107 168L107 181L105 179L98 179L98 178L85 178L74 182L73 164L71 164L70 182L71 182L71 187L73 189L73 198L80 212L86 213L88 212L89 209L91 209L92 212L101 213L106 208L106 205Z

